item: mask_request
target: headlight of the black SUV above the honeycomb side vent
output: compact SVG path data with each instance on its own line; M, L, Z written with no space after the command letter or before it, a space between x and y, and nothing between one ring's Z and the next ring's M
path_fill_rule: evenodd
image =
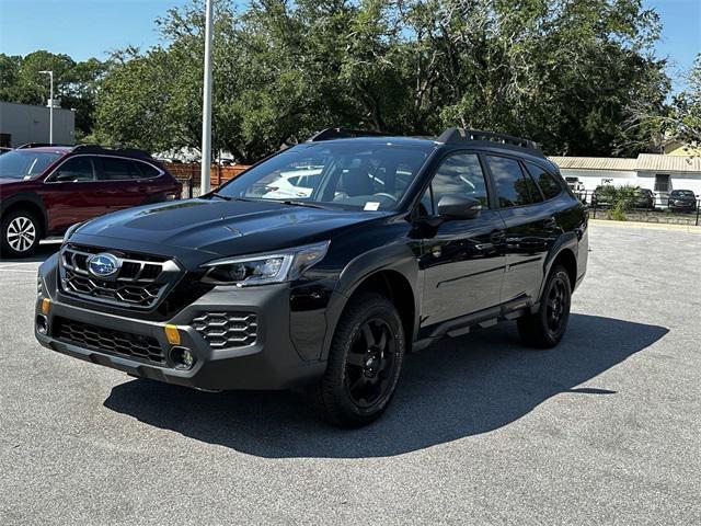
M287 282L323 260L327 250L329 241L324 241L268 254L211 261L203 265L208 268L203 282L238 287Z

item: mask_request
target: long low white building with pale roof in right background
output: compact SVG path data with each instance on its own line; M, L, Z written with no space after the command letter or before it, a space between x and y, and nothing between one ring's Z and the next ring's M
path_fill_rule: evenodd
M641 153L636 159L609 157L551 157L564 178L577 178L584 190L597 186L640 186L655 193L665 205L673 190L691 190L701 196L701 158Z

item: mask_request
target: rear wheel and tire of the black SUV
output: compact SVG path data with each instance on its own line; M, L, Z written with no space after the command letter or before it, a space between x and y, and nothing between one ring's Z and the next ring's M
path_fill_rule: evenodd
M538 312L517 320L521 341L536 348L552 348L564 335L570 320L572 286L570 275L562 265L550 272Z

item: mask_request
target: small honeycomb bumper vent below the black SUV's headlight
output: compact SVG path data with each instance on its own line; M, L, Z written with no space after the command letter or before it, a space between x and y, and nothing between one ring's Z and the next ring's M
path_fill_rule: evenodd
M252 345L258 329L254 312L204 312L192 327L212 348Z

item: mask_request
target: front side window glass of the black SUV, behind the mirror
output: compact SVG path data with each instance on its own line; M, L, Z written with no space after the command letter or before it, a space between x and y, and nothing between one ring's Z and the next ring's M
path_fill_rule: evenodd
M482 206L489 206L486 181L476 153L457 153L450 156L436 171L430 182L433 188L433 208L444 195L461 195L478 199Z

